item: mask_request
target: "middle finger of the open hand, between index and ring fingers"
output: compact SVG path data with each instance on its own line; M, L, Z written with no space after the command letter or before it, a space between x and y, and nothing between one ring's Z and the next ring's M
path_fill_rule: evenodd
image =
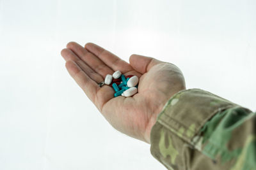
M93 55L93 53L88 52L83 46L77 44L76 42L70 42L67 44L67 48L72 50L77 57L83 60L88 66L90 66L96 73L99 73L105 78L107 74L113 74L113 70L108 67L102 60Z

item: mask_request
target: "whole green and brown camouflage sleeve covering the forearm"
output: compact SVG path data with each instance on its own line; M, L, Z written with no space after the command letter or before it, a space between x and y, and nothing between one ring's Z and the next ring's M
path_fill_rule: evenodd
M173 96L150 134L168 169L256 169L255 113L200 89Z

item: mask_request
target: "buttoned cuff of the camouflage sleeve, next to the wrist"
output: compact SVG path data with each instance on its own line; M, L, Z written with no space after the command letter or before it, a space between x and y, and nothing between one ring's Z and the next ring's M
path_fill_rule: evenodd
M200 89L182 90L164 106L150 132L150 151L168 169L182 165L182 147L195 145L193 138L221 110L236 104ZM176 168L175 168L176 169Z

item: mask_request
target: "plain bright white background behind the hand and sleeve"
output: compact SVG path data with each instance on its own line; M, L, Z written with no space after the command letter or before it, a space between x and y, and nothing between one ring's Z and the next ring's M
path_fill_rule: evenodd
M255 0L0 0L0 169L165 169L116 131L65 69L68 41L180 67L256 109Z

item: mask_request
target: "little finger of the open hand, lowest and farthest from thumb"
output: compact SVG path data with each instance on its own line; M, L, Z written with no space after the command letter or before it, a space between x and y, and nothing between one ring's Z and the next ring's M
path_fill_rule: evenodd
M97 94L97 90L100 88L97 83L85 74L73 60L68 60L66 62L66 67L70 76L72 76L81 89L83 89L86 96L95 103L95 96Z

